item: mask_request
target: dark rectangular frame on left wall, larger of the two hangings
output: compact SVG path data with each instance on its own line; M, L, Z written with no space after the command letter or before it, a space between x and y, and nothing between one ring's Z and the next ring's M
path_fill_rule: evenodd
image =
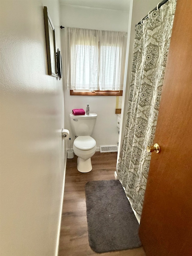
M48 74L57 77L56 49L55 49L55 28L51 17L44 6L45 38L47 49Z

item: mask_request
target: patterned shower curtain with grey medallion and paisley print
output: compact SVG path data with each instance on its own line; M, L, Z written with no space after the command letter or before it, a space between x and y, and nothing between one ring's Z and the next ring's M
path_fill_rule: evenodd
M131 71L127 120L117 174L132 207L142 212L165 67L175 14L176 0L170 0L137 25Z

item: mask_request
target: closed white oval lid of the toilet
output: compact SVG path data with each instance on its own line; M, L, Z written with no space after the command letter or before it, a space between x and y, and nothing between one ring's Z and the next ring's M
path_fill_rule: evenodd
M78 136L73 144L77 149L89 150L96 146L96 141L91 136Z

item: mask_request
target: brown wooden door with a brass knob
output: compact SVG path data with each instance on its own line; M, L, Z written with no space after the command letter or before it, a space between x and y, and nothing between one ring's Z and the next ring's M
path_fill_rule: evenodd
M139 236L147 256L192 255L192 1L177 0Z

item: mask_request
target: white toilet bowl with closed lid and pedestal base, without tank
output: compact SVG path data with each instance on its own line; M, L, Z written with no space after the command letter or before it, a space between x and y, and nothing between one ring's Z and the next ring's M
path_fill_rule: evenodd
M77 170L88 173L92 170L91 157L96 151L96 141L91 136L78 136L73 142L73 151L78 156Z

